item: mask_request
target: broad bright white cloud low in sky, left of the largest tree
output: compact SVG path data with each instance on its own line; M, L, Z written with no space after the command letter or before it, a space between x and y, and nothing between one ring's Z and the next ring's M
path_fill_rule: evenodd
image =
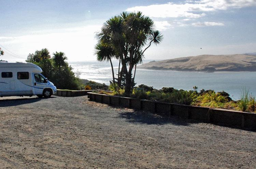
M68 61L95 60L93 55L96 44L95 32L102 25L88 25L84 27L64 28L31 32L28 35L16 37L0 37L1 45L13 53L26 58L35 50L47 48L51 53L64 52ZM1 56L3 60L16 60L8 55Z

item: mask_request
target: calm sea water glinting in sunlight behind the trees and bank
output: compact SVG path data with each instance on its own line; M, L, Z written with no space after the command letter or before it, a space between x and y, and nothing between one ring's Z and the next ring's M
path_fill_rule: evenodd
M149 60L144 63L150 62ZM114 61L114 71L118 72L118 62ZM109 84L112 79L110 63L100 62L70 62L74 72L80 72L82 79ZM226 91L238 100L241 88L246 87L256 96L256 72L181 72L168 70L137 69L135 82L137 85L145 84L156 89L174 87L177 89L193 90L193 86L201 89Z

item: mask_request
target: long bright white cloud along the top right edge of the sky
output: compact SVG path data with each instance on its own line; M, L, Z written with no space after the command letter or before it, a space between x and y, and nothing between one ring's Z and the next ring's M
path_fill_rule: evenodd
M242 8L255 5L256 0L188 0L183 4L174 4L169 2L166 4L135 6L128 8L126 11L141 11L144 15L156 18L199 18L205 16L205 12L227 10L229 8Z

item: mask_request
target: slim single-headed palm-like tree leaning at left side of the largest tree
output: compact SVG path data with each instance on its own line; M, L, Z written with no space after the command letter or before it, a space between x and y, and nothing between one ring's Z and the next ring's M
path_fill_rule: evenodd
M111 61L111 58L115 57L113 48L111 48L107 44L104 44L102 41L100 41L95 45L95 49L96 49L96 51L94 52L94 54L97 57L97 61L110 62L111 69L112 69L113 83L115 85L114 68L113 68L113 64Z

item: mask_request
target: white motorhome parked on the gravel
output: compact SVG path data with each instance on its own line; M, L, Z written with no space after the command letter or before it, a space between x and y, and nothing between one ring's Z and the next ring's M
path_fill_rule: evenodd
M26 62L0 62L0 97L33 96L51 97L57 92L52 82L42 74L42 69Z

